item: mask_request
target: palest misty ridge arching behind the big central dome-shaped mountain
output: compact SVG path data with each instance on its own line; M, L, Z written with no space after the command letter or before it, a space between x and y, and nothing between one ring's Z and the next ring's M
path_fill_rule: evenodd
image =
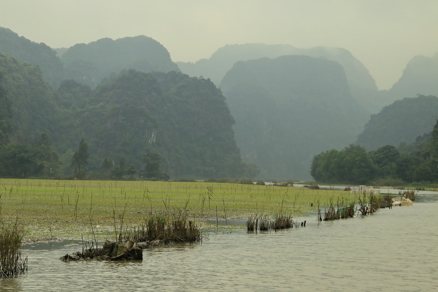
M191 76L210 78L220 84L223 76L237 61L276 58L283 55L306 55L321 57L339 62L345 71L351 95L370 113L377 113L382 106L390 102L385 95L379 95L373 77L348 50L342 48L314 47L310 49L295 48L291 45L243 44L226 45L219 48L209 59L201 59L196 63L177 62L181 71Z

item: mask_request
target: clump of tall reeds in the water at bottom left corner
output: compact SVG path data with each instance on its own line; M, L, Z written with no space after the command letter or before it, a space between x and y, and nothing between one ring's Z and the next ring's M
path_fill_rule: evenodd
M27 271L28 261L21 258L21 241L25 236L23 226L18 222L2 224L0 232L0 277L22 274Z

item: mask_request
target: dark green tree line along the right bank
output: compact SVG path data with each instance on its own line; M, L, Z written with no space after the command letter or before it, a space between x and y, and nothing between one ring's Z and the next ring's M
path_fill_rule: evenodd
M350 144L315 155L311 176L323 183L372 183L397 179L404 183L438 181L438 121L430 134L410 145L385 145L367 152Z

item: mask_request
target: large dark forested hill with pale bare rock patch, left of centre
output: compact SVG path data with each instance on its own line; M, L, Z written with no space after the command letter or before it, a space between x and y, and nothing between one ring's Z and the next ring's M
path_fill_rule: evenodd
M128 70L88 91L75 81L63 81L58 90L66 108L64 134L54 138L61 152L84 137L92 160L100 163L124 156L141 169L141 155L153 151L171 177L249 176L244 172L251 167L234 141L233 117L211 81L176 71Z

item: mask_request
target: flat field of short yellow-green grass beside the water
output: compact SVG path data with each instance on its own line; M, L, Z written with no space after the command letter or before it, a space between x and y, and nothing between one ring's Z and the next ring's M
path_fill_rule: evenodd
M339 190L283 186L46 179L0 179L0 194L2 220L15 220L18 214L28 229L28 238L62 239L80 239L91 229L99 238L106 238L114 231L114 221L118 225L123 217L125 226L138 226L151 212L187 212L196 220L215 220L216 215L219 220L225 216L229 220L280 211L296 217L316 210L318 199L321 206L330 198L356 199L354 194Z

